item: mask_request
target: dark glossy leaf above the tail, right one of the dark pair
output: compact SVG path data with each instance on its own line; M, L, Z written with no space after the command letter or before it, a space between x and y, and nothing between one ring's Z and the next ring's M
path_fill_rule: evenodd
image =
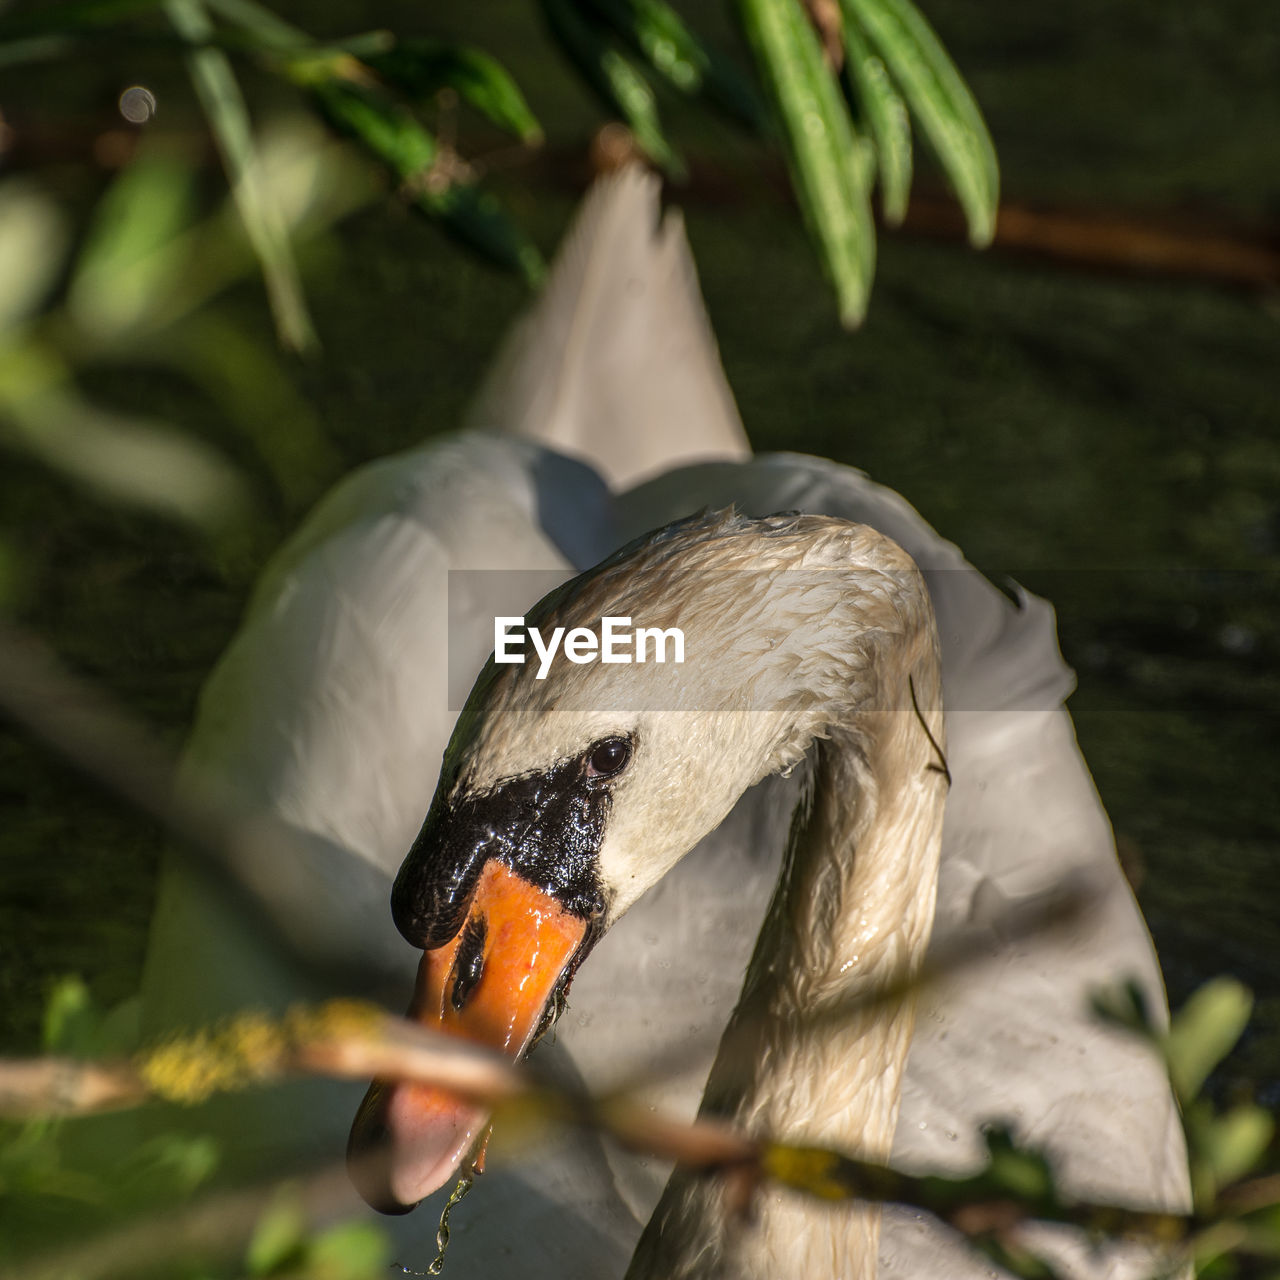
M749 128L764 110L742 72L704 45L663 0L586 0L650 67L685 93L701 93Z

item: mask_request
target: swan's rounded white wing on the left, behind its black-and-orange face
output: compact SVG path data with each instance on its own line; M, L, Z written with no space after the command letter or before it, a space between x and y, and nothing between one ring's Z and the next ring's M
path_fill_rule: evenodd
M268 566L201 692L182 772L289 829L261 896L305 952L310 938L330 966L411 972L388 890L435 788L457 686L466 692L493 646L481 596L497 588L520 613L572 570L566 550L598 557L600 495L586 467L529 442L460 436L353 474ZM572 529L562 516L563 545L543 530L547 506L577 513ZM256 993L256 948L215 928L209 947L243 965L205 963L211 890L187 886L191 874L169 859L161 877L145 977L154 1029Z

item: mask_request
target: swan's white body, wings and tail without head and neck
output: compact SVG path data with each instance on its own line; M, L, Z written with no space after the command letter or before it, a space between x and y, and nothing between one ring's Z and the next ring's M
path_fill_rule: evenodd
M440 660L449 570L507 571L500 612L521 613L549 584L511 571L563 577L708 504L872 525L924 571L941 634L955 785L936 937L989 945L988 960L920 1001L893 1158L970 1166L979 1123L1000 1117L1050 1149L1071 1190L1184 1203L1185 1157L1160 1068L1084 1011L1091 984L1120 975L1135 977L1153 1007L1162 993L1061 709L1070 673L1051 611L1030 598L1010 604L901 499L858 472L800 457L745 461L678 223L668 216L655 232L654 204L636 175L589 202L479 401L472 426L508 434L472 431L364 468L275 558L206 685L188 767L220 777L307 841L305 900L293 888L274 904L285 927L301 924L314 947L349 961L367 986L403 986L415 952L389 928L385 904L452 727ZM654 424L664 436L646 434ZM698 456L718 461L658 474ZM627 488L646 475L657 477ZM461 664L476 669L492 644L492 579L454 573L448 582L452 666L468 616L472 652ZM694 1108L777 874L796 785L749 791L604 937L540 1057L608 1082L663 1038L694 1038L704 1047L700 1073L663 1093L666 1105ZM1073 870L1102 883L1094 914L1066 934L1002 946L995 931L1006 909ZM152 1027L300 993L310 993L307 983L279 969L229 904L192 873L166 868L146 977ZM349 1103L334 1102L343 1097L349 1091L320 1085L276 1093L259 1100L246 1132L262 1148L332 1157L349 1115ZM243 1146L252 1164L257 1153ZM664 1170L586 1139L536 1166L492 1171L454 1217L451 1272L621 1275L663 1180ZM430 1239L434 1228L430 1208L397 1225L404 1240ZM425 1243L406 1247L408 1265L429 1261ZM1120 1253L1066 1266L1132 1271ZM931 1220L886 1215L882 1280L986 1274Z

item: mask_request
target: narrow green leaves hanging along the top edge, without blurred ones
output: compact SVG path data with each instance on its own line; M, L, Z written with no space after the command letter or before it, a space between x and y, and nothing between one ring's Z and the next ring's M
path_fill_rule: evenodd
M705 97L745 128L767 132L750 77L696 36L664 0L539 0L548 31L637 147L672 177L684 172L650 78ZM845 0L845 40L822 49L804 0L740 0L813 234L846 325L867 310L874 225L867 192L877 168L886 216L901 220L910 186L909 115L919 119L952 182L975 244L995 228L995 150L973 96L911 0ZM827 20L832 20L828 18ZM388 31L314 40L257 0L68 0L0 15L0 65L83 56L95 42L141 35L170 41L187 64L221 157L243 232L261 266L284 346L314 342L289 227L269 189L236 59L298 86L312 105L384 164L415 204L530 283L541 260L475 170L429 120L456 95L521 143L541 127L515 81L481 50ZM847 55L851 72L842 73ZM868 122L863 136L861 120Z

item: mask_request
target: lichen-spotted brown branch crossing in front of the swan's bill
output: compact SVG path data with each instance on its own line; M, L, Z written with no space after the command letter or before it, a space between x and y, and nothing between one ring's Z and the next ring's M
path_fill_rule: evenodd
M513 1111L524 1112L544 1123L600 1130L644 1155L732 1174L748 1198L768 1181L824 1201L909 1204L970 1239L998 1242L1024 1222L1047 1221L1169 1248L1204 1225L1181 1213L1062 1198L1047 1166L1043 1185L1019 1197L998 1158L969 1178L920 1176L840 1151L748 1138L713 1120L685 1124L628 1098L599 1100L547 1084L494 1051L356 1001L300 1007L282 1019L242 1015L215 1030L169 1039L131 1064L0 1062L0 1101L10 1116L29 1116L50 1102L63 1115L146 1097L195 1103L291 1074L435 1084L495 1111L499 1123L504 1114L511 1119ZM202 1219L197 1213L193 1221ZM164 1248L170 1239L163 1236Z

